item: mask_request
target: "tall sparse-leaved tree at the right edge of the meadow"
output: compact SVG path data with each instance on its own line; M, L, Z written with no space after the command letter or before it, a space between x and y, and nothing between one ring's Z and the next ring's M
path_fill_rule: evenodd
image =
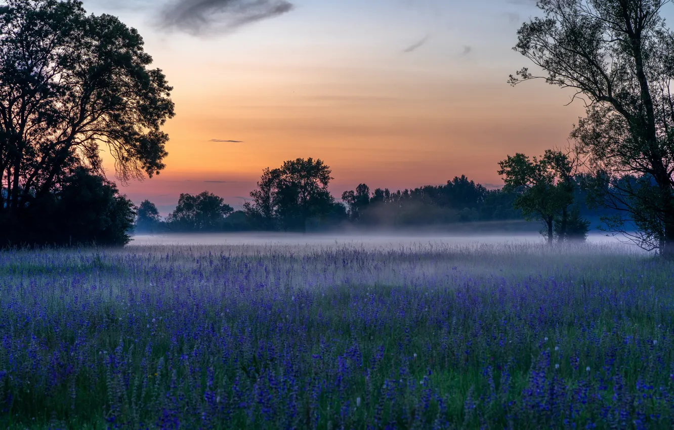
M667 0L542 0L543 18L518 30L525 67L511 84L541 78L584 98L572 137L588 154L596 203L618 210L609 228L674 257L674 38ZM625 176L641 178L637 187ZM652 181L652 183L651 183ZM631 225L630 225L631 224Z

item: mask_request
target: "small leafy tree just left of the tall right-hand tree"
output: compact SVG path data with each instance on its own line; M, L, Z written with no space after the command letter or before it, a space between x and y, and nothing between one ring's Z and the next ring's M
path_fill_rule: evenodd
M557 224L557 241L566 240L569 208L574 203L574 161L559 151L547 150L539 159L524 154L499 162L504 191L515 191L515 208L530 220L541 220L541 232L552 244Z

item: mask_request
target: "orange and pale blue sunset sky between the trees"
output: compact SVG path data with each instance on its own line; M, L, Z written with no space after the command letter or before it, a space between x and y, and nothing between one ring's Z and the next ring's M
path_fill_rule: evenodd
M533 0L84 0L137 28L174 87L166 169L121 191L162 214L180 193L240 208L262 169L332 168L336 197L439 185L498 187L497 162L568 145L582 103L512 51ZM235 141L235 142L228 142ZM114 168L106 157L109 177Z

